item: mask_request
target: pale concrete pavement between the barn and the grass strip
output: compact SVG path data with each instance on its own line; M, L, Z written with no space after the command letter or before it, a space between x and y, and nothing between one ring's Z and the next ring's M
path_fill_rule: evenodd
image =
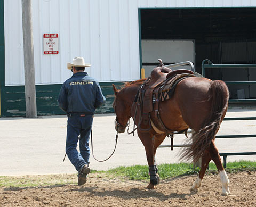
M229 109L226 117L256 117L256 107ZM97 159L106 159L114 149L114 114L96 114L93 123L93 147ZM65 155L67 117L0 118L0 176L76 173ZM133 122L131 120L132 130ZM223 121L218 135L256 134L256 120ZM185 136L175 135L174 144L182 144ZM220 153L256 151L256 138L217 139ZM166 138L163 144L170 144ZM158 148L156 161L174 163L180 148ZM254 160L256 155L228 156L227 161ZM147 164L146 153L137 134L119 134L116 152L106 162L97 162L91 155L90 167L108 170L118 166Z

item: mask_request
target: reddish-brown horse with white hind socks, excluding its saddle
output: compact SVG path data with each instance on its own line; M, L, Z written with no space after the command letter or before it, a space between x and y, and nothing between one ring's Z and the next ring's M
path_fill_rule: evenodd
M161 70L160 72L166 71ZM166 74L164 76L166 77ZM189 147L183 148L181 159L186 161L193 159L195 162L201 158L202 163L199 175L190 191L198 191L206 168L213 160L220 175L221 194L230 195L229 179L214 144L215 135L228 109L229 90L225 82L195 76L180 80L169 99L153 103L153 110L148 113L152 127L147 130L140 127L143 123L144 113L141 111L143 103L138 102L138 94L145 82L147 79L126 82L121 89L117 89L113 84L115 93L113 108L116 115L115 129L117 133L124 133L131 117L134 120L134 125L137 126L137 134L145 147L149 166L150 182L147 188L155 189L160 181L155 155L157 147L166 136L170 135L168 132L166 133L166 130L174 132L190 128L192 135L188 140L193 140L193 142Z

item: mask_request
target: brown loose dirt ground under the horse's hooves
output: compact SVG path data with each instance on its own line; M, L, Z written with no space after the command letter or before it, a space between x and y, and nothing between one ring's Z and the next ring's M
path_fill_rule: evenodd
M146 181L107 179L90 174L82 187L2 187L0 206L256 206L256 172L228 176L230 196L221 196L217 174L205 175L198 193L189 190L196 175L161 180L155 190L148 190ZM76 179L75 175L71 179Z

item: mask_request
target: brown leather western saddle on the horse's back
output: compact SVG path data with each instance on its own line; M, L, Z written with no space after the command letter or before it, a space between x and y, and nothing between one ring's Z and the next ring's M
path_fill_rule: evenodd
M139 117L138 129L142 131L150 131L154 129L158 134L166 134L166 136L171 136L173 134L183 133L186 130L174 132L166 128L159 116L159 102L168 100L174 93L175 86L188 77L195 77L193 71L190 70L174 70L164 66L161 59L156 68L151 71L151 75L143 82L134 100L135 115L134 120L137 116L137 110ZM154 111L154 116L157 118L161 129L159 130L154 125L150 117L150 112L153 112L153 105L156 104L156 110ZM152 113L151 113L152 114Z

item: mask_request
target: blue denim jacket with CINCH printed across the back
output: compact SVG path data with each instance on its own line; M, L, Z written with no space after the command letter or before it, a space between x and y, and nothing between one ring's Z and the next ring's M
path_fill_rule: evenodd
M60 108L67 114L94 113L105 101L98 81L87 72L77 72L67 79L58 97Z

